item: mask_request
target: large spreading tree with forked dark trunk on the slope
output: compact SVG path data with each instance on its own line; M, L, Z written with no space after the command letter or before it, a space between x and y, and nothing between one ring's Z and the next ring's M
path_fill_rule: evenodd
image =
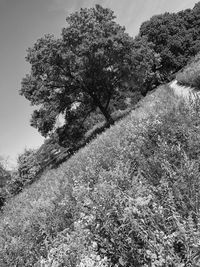
M55 129L59 114L65 117L62 135L77 139L97 109L113 123L110 101L131 74L133 44L114 19L113 11L100 5L81 9L67 17L61 38L45 35L28 49L31 73L20 94L38 106L31 125L43 136Z

